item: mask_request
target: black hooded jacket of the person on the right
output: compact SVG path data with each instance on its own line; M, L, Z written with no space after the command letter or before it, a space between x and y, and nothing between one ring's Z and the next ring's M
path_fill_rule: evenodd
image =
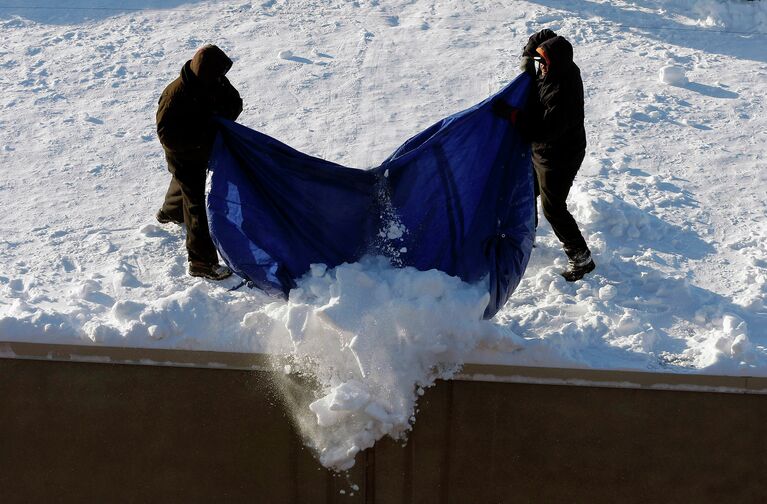
M573 62L573 46L551 30L538 32L525 46L526 55L541 53L548 71L538 74L538 93L520 117L520 131L532 142L536 168L577 164L577 170L586 149L581 71Z

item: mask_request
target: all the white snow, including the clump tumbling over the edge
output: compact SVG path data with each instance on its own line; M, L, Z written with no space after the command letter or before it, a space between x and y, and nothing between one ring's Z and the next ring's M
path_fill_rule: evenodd
M30 0L0 27L2 341L280 356L337 468L464 362L767 376L767 2ZM241 123L364 169L513 79L541 28L585 85L586 279L543 218L492 321L481 284L376 258L287 302L186 275L154 113L198 47L235 61Z

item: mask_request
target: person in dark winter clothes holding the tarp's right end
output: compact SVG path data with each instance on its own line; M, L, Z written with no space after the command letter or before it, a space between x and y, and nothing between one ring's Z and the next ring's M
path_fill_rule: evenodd
M540 64L537 72L534 61ZM569 258L562 276L573 282L596 267L567 210L567 196L586 155L581 72L573 62L570 42L551 30L530 37L521 68L535 77L535 89L524 110L512 110L500 101L494 108L513 120L522 137L532 142L536 196L540 195L543 215Z

